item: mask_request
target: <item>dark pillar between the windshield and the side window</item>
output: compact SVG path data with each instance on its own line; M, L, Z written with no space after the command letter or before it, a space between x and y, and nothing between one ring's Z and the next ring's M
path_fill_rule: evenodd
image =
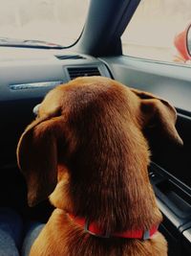
M122 54L120 36L140 0L92 0L82 35L74 50L92 56Z

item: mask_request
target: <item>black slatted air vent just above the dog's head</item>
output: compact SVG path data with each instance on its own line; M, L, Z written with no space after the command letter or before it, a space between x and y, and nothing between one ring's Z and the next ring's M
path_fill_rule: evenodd
M68 72L71 80L77 77L101 76L97 67L70 67Z

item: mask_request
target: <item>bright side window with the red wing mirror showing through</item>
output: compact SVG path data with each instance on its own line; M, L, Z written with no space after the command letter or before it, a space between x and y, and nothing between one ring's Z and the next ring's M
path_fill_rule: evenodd
M122 35L123 54L160 61L190 63L179 36L191 21L190 0L142 0ZM178 36L178 39L177 37ZM183 38L182 38L183 37ZM179 43L176 43L178 40ZM179 47L178 47L179 45ZM184 49L185 50L185 49ZM186 49L187 51L187 49Z

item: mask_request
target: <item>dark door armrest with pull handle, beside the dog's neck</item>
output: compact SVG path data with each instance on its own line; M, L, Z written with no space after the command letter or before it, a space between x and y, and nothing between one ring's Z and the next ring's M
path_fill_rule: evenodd
M182 226L191 221L191 189L154 162L149 176L164 220L182 232Z

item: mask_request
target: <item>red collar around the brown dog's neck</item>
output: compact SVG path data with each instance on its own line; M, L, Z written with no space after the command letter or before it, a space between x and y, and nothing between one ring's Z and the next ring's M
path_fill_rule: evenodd
M131 238L131 239L141 239L141 240L148 240L150 239L157 231L158 226L153 226L150 230L127 230L124 232L116 232L113 234L103 234L103 232L98 228L96 222L88 223L84 218L75 217L73 214L69 214L68 216L78 225L83 226L84 230L96 237L99 238L110 238L110 237L117 237L117 238Z

